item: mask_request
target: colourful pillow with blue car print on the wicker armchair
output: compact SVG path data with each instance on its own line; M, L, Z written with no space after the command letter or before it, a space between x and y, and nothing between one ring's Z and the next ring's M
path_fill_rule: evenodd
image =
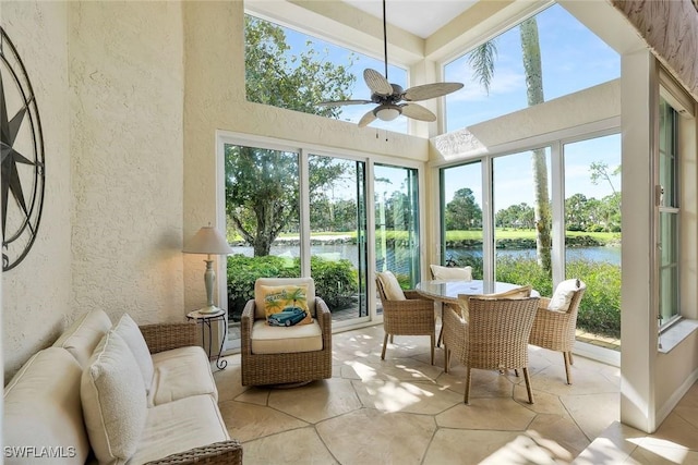
M308 284L260 285L258 291L267 325L291 327L313 322L308 308Z

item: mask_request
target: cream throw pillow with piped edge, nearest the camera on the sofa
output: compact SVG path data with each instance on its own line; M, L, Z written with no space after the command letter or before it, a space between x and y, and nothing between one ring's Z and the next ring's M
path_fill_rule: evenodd
M99 463L125 463L147 416L143 377L127 343L110 330L95 348L80 386L89 443Z

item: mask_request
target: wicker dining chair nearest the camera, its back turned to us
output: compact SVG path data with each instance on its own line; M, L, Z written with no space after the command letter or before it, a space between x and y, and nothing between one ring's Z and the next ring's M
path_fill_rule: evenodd
M533 403L531 380L528 374L528 339L535 318L539 297L488 298L464 297L468 322L457 315L453 306L444 307L444 342L466 366L466 392L464 402L470 402L470 370L524 371L528 402Z

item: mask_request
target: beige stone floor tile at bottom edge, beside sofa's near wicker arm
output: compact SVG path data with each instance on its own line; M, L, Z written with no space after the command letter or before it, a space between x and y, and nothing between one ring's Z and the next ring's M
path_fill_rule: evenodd
M333 465L338 463L312 427L245 442L242 451L244 465Z

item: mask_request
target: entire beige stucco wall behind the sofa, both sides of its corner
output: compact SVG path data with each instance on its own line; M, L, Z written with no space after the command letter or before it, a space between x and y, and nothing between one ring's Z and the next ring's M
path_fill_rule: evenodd
M77 315L181 319L182 17L169 2L2 4L37 94L46 199L3 273L5 379Z

